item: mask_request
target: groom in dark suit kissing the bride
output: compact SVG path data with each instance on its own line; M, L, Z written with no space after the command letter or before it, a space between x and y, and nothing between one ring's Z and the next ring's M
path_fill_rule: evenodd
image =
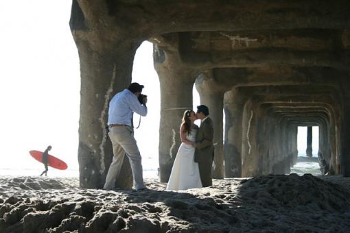
M211 166L213 164L213 121L209 117L209 108L201 105L197 106L197 119L201 120L200 127L196 136L196 152L194 161L198 162L200 180L202 186L211 186Z

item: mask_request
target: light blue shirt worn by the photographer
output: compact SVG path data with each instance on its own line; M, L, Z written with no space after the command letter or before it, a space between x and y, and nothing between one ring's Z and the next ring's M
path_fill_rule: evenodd
M132 112L147 115L146 106L141 105L137 96L125 89L117 93L109 102L108 125L123 124L131 126Z

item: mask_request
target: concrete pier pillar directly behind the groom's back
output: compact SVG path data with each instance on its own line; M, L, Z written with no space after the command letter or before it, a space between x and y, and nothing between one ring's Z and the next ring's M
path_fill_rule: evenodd
M213 120L214 136L214 162L212 175L215 179L224 178L224 153L223 153L223 108L224 90L216 84L215 80L205 73L196 79L196 88L200 95L200 104L209 108L209 115Z

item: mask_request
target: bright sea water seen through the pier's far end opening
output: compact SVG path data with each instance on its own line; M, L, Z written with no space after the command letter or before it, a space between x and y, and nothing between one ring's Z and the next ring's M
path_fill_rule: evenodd
M305 173L310 173L312 175L321 175L320 164L318 164L317 156L312 158L305 155L298 155L296 164L294 167L290 168L290 173L296 173L298 175L303 175Z

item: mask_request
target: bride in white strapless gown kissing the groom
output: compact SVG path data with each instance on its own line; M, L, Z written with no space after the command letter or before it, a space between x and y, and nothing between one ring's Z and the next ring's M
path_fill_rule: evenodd
M196 134L198 126L194 124L196 114L193 110L186 110L180 127L181 145L174 160L167 190L178 191L187 188L202 188L198 163L194 162L196 148Z

